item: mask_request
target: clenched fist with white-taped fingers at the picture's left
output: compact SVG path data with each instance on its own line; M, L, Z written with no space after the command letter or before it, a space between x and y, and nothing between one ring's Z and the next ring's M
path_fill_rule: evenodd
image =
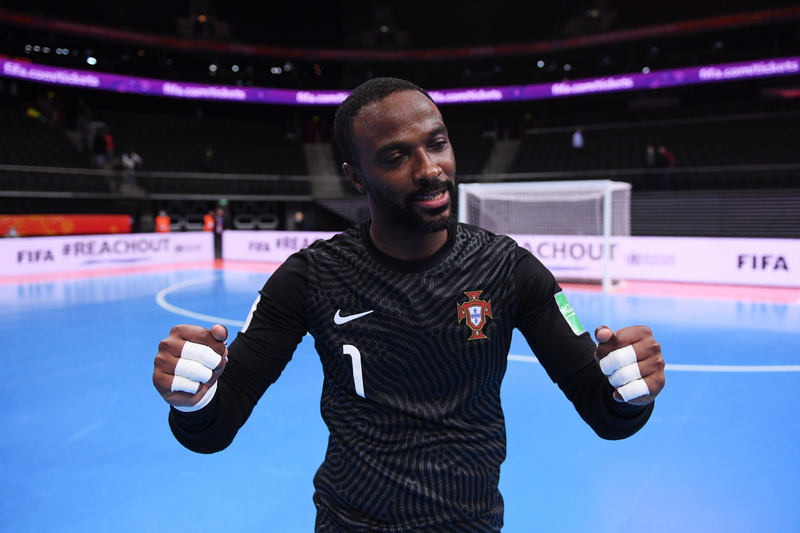
M153 385L164 401L175 407L200 402L225 370L227 338L228 330L219 324L210 330L188 325L172 328L158 345L153 369Z

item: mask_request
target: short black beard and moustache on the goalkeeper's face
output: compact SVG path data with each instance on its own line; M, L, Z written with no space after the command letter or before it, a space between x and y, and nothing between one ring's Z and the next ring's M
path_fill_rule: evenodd
M425 213L421 212L414 198L440 190L442 187L447 190L450 203ZM367 192L381 214L386 217L387 222L398 229L418 233L437 233L446 230L458 220L458 186L450 180L428 182L399 202L384 196L372 187L367 188ZM450 215L445 216L448 207Z

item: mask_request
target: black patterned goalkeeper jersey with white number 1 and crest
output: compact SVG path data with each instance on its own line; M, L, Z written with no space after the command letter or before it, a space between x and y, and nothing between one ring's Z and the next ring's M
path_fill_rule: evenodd
M499 531L500 385L514 328L600 436L627 437L652 411L612 399L558 292L508 237L454 225L433 256L409 262L381 253L362 223L270 277L216 397L194 413L172 409L170 425L192 450L226 447L308 331L330 430L314 478L317 531Z

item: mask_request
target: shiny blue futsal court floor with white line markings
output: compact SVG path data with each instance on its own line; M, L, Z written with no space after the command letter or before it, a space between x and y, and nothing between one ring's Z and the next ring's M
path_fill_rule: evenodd
M235 334L267 277L209 266L0 284L0 531L313 531L327 442L313 339L216 455L174 440L151 383L172 325ZM518 335L503 531L798 531L800 302L567 295L590 331L649 325L667 385L639 434L603 441Z

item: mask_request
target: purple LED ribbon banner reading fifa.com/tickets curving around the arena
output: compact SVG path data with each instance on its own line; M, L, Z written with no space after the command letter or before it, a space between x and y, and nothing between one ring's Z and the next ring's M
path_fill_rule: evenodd
M440 105L513 102L797 74L800 74L800 56L651 71L646 74L639 72L557 83L480 89L441 89L430 91L430 95ZM85 87L120 93L258 104L339 105L349 94L347 91L294 91L263 87L179 83L88 70L64 69L10 59L0 59L0 75L52 85Z

